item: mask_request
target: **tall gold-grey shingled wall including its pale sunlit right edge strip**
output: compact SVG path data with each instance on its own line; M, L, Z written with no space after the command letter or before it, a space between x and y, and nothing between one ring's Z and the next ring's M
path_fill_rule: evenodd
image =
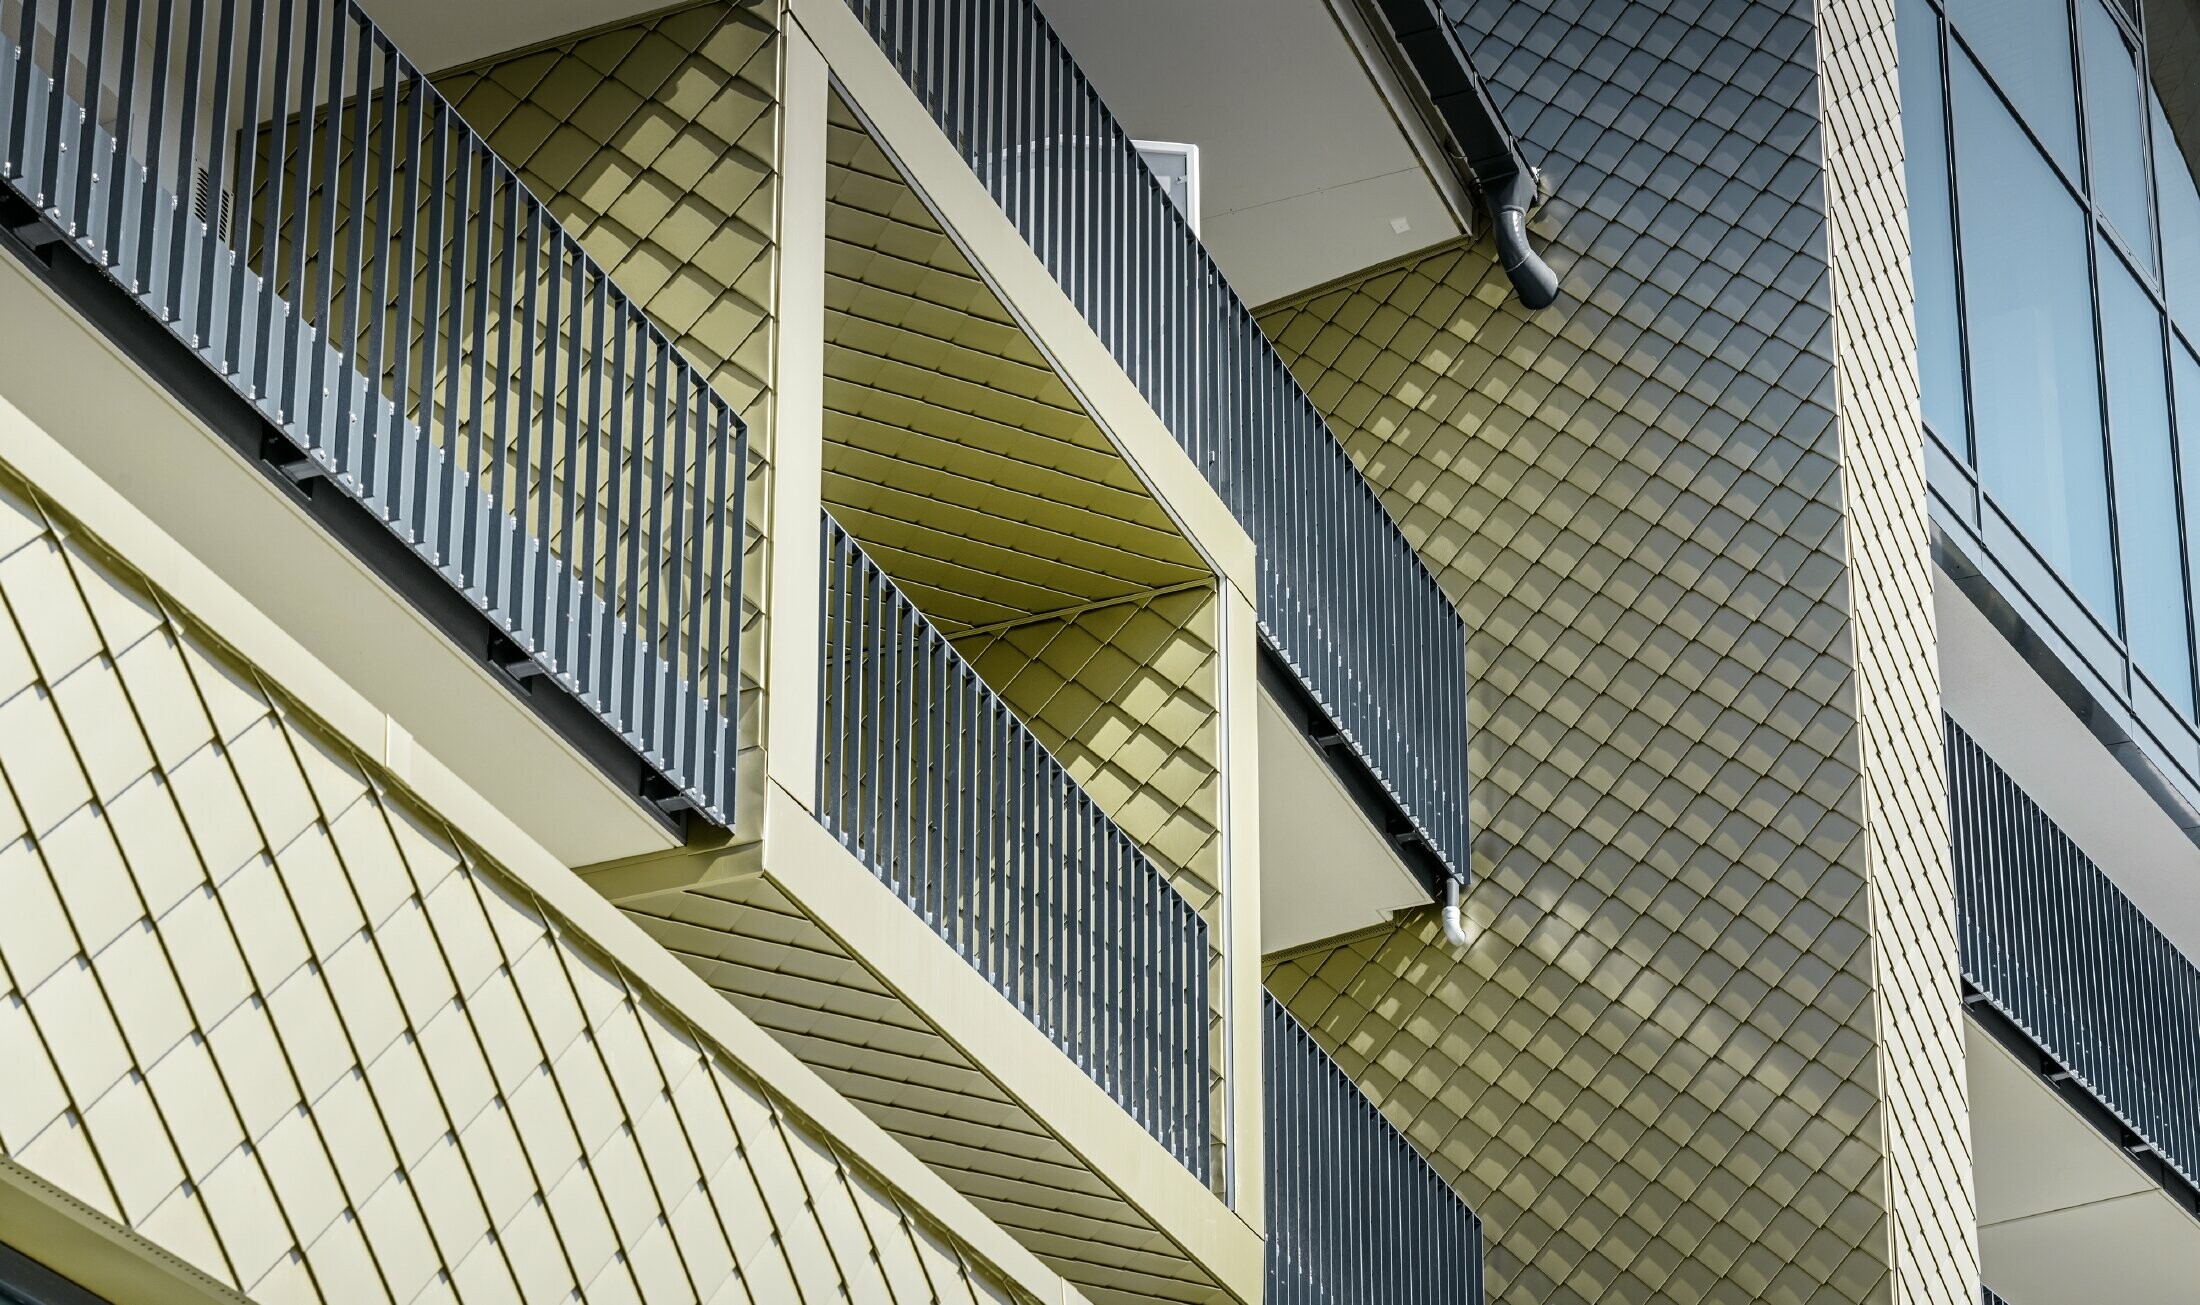
M1892 13L1450 11L1560 306L1450 246L1263 321L1465 614L1474 942L1412 915L1269 984L1483 1215L1498 1298L1969 1298L1967 1171L1925 1193L1967 1162ZM1925 922L1874 937L1874 891Z

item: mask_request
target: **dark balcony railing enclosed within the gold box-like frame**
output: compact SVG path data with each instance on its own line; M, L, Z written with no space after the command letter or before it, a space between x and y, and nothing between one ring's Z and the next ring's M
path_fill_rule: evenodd
M825 517L818 819L1208 1182L1208 926Z

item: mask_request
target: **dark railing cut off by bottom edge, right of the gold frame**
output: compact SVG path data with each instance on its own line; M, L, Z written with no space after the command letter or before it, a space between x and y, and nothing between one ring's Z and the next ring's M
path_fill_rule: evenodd
M1481 1305L1483 1221L1274 995L1267 1305Z

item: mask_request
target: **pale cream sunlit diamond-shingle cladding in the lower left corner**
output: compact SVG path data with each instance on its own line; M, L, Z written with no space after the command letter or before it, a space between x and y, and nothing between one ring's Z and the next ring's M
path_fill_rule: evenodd
M11 473L0 607L9 1162L253 1301L1014 1296Z

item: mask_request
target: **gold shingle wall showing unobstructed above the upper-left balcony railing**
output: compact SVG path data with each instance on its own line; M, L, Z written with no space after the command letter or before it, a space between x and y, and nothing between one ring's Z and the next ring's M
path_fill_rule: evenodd
M436 88L510 163L750 425L737 469L763 502L779 266L779 40L748 4L713 0L488 59ZM737 638L763 647L770 513L748 513ZM763 744L761 656L739 660L737 748Z

